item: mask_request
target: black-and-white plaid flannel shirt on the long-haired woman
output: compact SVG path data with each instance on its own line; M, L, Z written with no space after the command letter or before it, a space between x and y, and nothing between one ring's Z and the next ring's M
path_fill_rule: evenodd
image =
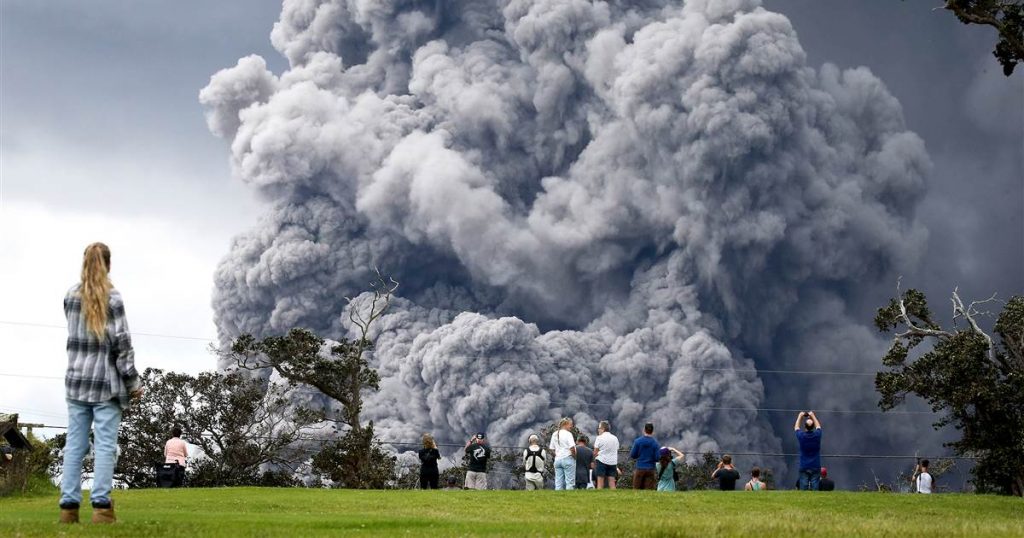
M68 290L65 316L68 318L68 373L65 387L69 400L106 402L118 400L126 407L130 392L141 384L135 371L135 350L131 346L125 304L117 290L111 290L106 308L106 335L96 338L82 313L81 285Z

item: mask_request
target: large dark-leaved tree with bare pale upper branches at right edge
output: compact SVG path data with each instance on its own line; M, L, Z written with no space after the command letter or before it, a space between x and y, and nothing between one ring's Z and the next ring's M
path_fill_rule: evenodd
M952 425L961 439L949 446L974 456L978 491L1021 495L1024 492L1024 297L1006 302L986 333L979 311L994 302L965 304L952 293L953 327L943 329L933 318L925 294L909 289L880 308L874 325L894 333L874 386L879 406L889 411L908 395L921 397L943 412L934 426ZM927 344L926 344L927 342ZM911 354L912 357L911 358Z

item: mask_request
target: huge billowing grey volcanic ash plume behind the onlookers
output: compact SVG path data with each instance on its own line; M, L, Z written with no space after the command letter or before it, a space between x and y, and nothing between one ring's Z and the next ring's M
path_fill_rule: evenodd
M570 415L778 451L766 389L873 407L869 382L751 369L878 364L845 297L919 256L929 159L882 82L807 67L758 4L286 0L290 69L245 57L200 94L271 204L217 271L221 336L341 336L379 266L386 440Z

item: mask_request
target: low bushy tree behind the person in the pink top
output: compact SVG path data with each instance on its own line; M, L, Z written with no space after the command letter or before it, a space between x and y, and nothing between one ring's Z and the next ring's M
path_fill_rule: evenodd
M308 458L304 432L323 419L296 409L283 385L239 373L148 368L141 379L142 397L125 410L118 438L115 478L131 488L155 485L154 465L164 461L174 425L203 451L189 462L189 485L293 485L292 471Z

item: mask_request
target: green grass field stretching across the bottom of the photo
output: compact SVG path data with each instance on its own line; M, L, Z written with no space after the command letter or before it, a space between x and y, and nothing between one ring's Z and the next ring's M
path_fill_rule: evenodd
M115 502L115 526L67 527L55 496L0 498L0 535L1024 536L1021 499L955 494L240 488L122 491Z

